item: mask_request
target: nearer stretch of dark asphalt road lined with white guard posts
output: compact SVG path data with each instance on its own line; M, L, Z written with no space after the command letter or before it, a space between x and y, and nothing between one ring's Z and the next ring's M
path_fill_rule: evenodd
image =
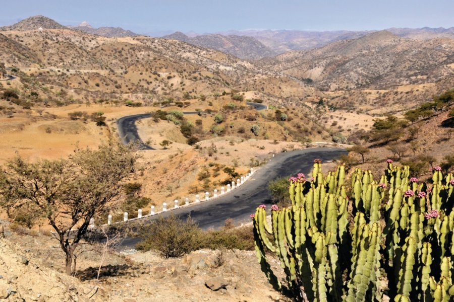
M171 213L181 218L191 215L204 230L220 228L227 218L232 218L237 224L249 222L249 215L255 212L258 205L265 204L268 210L270 208L271 196L267 190L268 182L281 176L296 175L300 172L308 174L314 159L329 161L345 153L347 151L343 148L321 147L276 154L268 164L255 172L244 185L232 193L206 203L175 209L143 220L150 222L157 217L166 217ZM140 242L139 238L125 238L122 249L134 248L138 242Z

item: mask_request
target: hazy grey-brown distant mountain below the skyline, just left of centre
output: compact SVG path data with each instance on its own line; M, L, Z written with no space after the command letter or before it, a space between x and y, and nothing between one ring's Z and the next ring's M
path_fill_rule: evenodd
M248 36L223 36L216 34L189 37L182 32L175 32L162 38L179 40L192 45L219 50L246 60L255 60L277 54L257 39Z

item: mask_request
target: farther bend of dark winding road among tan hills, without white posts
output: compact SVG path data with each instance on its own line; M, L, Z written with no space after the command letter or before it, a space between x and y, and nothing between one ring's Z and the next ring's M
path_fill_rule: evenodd
M246 102L247 105L253 106L256 110L264 110L267 108L266 105L259 104L259 103L252 103ZM184 114L198 114L196 111L189 111L183 112ZM124 144L127 144L131 141L135 141L139 144L139 148L141 150L154 150L153 147L145 144L143 140L140 138L139 133L137 132L136 121L151 117L150 113L143 113L143 114L134 114L124 116L117 120L118 132L120 134L120 138Z

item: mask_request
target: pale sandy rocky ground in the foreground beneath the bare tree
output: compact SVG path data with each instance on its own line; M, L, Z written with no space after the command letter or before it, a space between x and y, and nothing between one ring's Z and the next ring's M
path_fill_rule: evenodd
M100 247L81 247L76 277L70 277L62 272L64 254L55 240L17 231L7 228L6 237L0 238L0 300L288 300L272 289L251 251L200 250L173 259L164 259L154 252L112 252L97 281ZM278 260L270 261L275 272L280 273Z

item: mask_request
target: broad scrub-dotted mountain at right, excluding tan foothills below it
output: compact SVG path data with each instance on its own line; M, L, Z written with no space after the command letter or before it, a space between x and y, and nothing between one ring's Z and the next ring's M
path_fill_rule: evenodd
M298 79L310 78L325 91L388 89L454 78L454 40L403 39L379 31L321 48L287 52L262 59L260 64Z

